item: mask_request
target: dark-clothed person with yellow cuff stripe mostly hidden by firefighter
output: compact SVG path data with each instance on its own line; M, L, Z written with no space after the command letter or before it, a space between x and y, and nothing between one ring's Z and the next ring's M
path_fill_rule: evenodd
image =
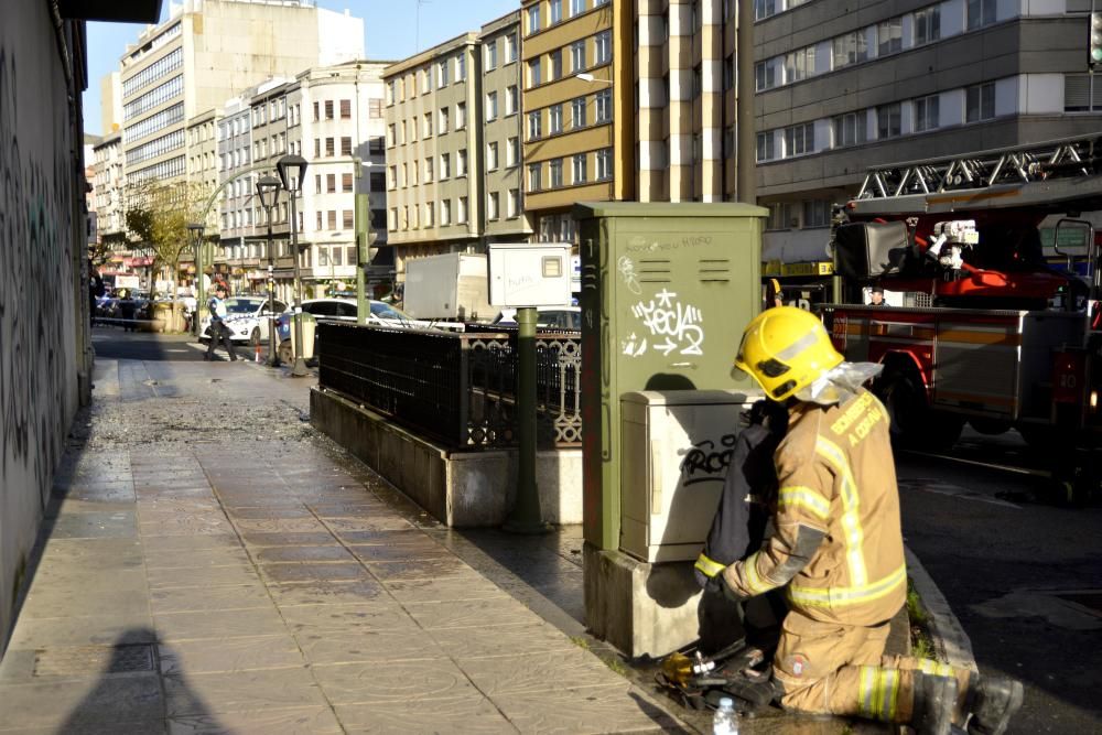
M705 656L715 656L741 642L747 634L742 603L732 602L709 586L716 573L757 551L777 501L777 472L773 453L788 429L788 412L768 399L754 403L744 414L747 425L738 433L723 482L720 505L709 529L704 550L696 558L696 582L704 588L696 608L700 642ZM784 601L770 599L777 620L784 617Z

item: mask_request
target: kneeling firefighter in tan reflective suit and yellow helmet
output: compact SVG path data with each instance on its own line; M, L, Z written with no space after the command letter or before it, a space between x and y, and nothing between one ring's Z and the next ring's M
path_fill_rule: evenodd
M813 314L770 309L747 326L735 366L789 409L777 447L776 533L710 582L732 599L788 585L774 658L780 703L809 713L910 723L920 734L1002 735L1020 682L930 660L885 657L907 592L888 417ZM968 715L971 714L971 718Z

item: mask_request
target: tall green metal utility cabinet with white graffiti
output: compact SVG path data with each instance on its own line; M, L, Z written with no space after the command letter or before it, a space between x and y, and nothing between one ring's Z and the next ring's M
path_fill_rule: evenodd
M761 229L746 204L580 203L585 540L620 541L620 397L756 388L732 364L761 309ZM624 457L624 461L629 461ZM640 457L640 462L644 457Z

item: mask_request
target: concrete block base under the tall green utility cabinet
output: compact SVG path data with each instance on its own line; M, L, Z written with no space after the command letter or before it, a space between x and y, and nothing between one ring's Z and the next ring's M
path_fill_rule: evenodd
M585 625L624 655L661 657L696 640L701 590L692 562L649 564L622 551L583 550Z

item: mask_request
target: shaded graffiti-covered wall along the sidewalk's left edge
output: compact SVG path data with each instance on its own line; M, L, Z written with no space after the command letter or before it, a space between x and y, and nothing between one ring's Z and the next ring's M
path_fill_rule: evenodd
M0 651L78 406L79 108L48 9L9 0L0 22Z

